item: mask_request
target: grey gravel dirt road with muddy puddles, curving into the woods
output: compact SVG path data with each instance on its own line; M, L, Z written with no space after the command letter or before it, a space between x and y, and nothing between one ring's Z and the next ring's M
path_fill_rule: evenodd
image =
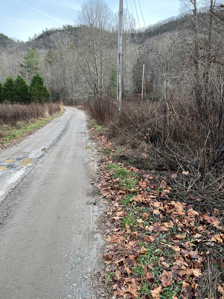
M89 148L91 147L91 148ZM78 109L0 152L0 298L96 298L96 152Z

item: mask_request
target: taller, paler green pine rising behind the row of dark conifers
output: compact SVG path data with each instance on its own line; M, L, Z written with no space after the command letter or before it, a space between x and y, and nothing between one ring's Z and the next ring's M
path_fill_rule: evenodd
M20 63L20 67L22 68L22 75L27 78L27 82L34 74L41 72L42 60L36 48L27 51L27 54L23 57L23 63Z

